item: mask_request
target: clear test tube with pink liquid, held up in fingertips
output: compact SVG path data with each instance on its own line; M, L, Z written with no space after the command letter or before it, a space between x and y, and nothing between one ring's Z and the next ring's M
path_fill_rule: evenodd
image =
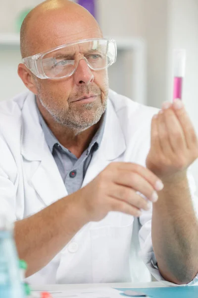
M173 100L182 99L183 78L185 75L186 51L174 51L174 84L173 84Z

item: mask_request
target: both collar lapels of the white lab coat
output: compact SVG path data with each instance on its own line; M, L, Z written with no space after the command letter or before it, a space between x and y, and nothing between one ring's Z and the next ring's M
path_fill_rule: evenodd
M107 116L99 149L94 152L85 175L83 185L93 180L110 161L120 156L126 148L119 120L108 99ZM45 141L42 127L36 110L34 94L30 93L22 108L23 135L22 155L26 160L39 162L31 173L31 183L46 206L67 196L67 190L56 165L56 162ZM31 167L31 163L26 166Z

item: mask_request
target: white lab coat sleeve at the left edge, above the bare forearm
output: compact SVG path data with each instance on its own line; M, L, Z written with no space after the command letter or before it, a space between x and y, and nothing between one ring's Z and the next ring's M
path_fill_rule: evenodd
M13 156L0 136L0 213L11 222L16 221L16 164Z

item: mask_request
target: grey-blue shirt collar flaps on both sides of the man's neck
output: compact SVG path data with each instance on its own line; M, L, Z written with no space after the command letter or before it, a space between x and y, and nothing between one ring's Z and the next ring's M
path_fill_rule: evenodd
M37 104L36 104L36 109L37 109L37 113L38 113L38 116L39 116L39 122L41 124L42 129L43 129L44 136L45 136L46 142L49 146L49 149L50 149L51 153L53 151L53 147L54 147L55 144L58 144L62 149L64 149L64 147L59 143L59 141L56 139L56 137L53 135L53 133L49 129L49 127L48 127L47 123L45 122L45 120L44 120L44 118L43 118ZM93 137L93 139L92 139L92 141L89 145L88 152L90 152L90 150L93 148L94 145L95 145L95 150L97 150L99 148L99 145L101 144L102 136L103 136L103 133L104 133L105 121L106 121L106 111L102 115L99 129L96 132L96 134L94 135L94 137Z

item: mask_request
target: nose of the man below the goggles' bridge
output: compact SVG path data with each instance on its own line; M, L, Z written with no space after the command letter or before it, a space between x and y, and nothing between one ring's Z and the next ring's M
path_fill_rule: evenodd
M74 73L74 81L77 85L89 85L94 81L94 74L92 74L85 59L81 58L78 62L76 71Z

